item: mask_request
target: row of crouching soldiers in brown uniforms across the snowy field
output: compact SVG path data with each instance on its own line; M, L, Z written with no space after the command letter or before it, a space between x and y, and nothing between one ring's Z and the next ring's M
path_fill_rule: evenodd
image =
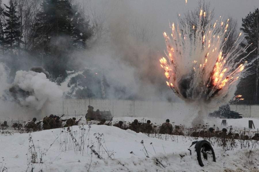
M62 115L64 116L64 114ZM40 130L41 129L41 122L43 122L42 129L43 130L48 130L48 129L54 129L54 128L61 128L62 127L62 122L66 122L64 127L71 127L74 125L78 125L78 122L81 120L76 121L76 118L69 118L62 120L62 116L56 116L56 115L49 115L48 117L44 117L42 121L39 121L36 123L37 119L33 118L32 121L28 122L24 128L26 129L32 129L32 130ZM88 106L87 114L85 115L86 121L91 121L94 120L94 107L93 106ZM113 118L111 118L110 122L106 123L105 119L102 119L98 125L108 125L110 126L110 123ZM7 122L4 121L3 124L0 125L1 127L9 127L7 125ZM135 119L131 124L128 126L124 125L122 121L119 121L118 123L114 124L113 126L121 128L123 130L133 130L135 132L142 132L142 133L156 133L155 128L156 126L153 126L151 124L150 120L147 120L146 123L141 123L138 122L137 119ZM22 124L14 123L12 125L14 128L22 128ZM176 125L174 128L172 124L170 124L170 120L167 119L159 128L159 134L172 134L172 135L182 135L184 136L184 133L180 129L180 126ZM223 128L221 131L215 131L214 128L209 128L209 130L201 130L200 132L193 132L190 134L193 137L221 137L221 138L233 138L233 139L243 139L243 140L248 140L249 137L247 135L241 135L239 136L238 133L232 133L231 130L227 133L227 129ZM256 133L252 138L252 140L259 140L259 134Z

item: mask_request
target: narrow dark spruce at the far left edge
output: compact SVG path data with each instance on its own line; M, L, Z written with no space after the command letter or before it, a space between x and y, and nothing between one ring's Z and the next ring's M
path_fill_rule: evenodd
M9 6L5 5L6 10L3 12L7 18L4 30L4 45L11 51L20 47L20 16L16 14L16 6L17 3L10 0Z

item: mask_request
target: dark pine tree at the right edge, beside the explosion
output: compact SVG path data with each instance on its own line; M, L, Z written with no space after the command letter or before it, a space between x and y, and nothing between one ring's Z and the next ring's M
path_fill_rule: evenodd
M259 55L259 9L255 9L254 12L250 12L245 18L242 18L242 27L240 30L243 31L245 35L245 39L247 40L248 44L251 46L247 49L247 52L251 52L252 50L256 49L252 52L249 56L250 59L255 58ZM254 68L256 70L256 75L254 75L255 79L255 93L254 93L254 100L258 100L258 91L259 91L259 60L254 62ZM250 88L247 88L250 89ZM254 88L251 88L254 89Z

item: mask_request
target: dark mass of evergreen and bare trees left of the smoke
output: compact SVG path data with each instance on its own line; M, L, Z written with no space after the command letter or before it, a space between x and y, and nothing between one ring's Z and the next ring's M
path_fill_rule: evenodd
M34 58L62 81L72 70L75 50L87 48L93 28L79 4L71 0L0 0L0 48L11 75Z

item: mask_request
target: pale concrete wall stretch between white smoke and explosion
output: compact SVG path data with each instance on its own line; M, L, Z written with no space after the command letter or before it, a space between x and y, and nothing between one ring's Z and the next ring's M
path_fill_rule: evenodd
M113 116L155 116L164 113L172 114L178 110L182 103L154 102L154 101L132 101L132 100L110 100L110 99L64 99L60 103L51 106L53 114L85 115L88 105L94 110L111 111ZM183 107L184 108L184 107Z

